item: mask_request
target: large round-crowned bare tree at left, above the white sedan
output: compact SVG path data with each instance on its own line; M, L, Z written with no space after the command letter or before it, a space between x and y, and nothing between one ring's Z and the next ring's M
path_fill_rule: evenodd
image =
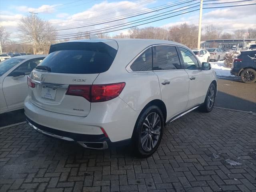
M57 35L50 22L44 21L36 15L23 17L20 20L19 31L24 35L24 40L32 42L38 53L48 52Z

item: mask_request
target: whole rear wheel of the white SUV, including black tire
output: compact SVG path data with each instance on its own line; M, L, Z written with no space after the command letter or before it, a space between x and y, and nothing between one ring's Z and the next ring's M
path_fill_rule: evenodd
M158 115L159 118L157 119L159 120L159 122L156 121L157 123L154 126L150 124L150 120L152 120L153 117L154 121L156 117L154 116L155 114ZM148 118L148 121L146 120L146 118ZM149 120L149 118L151 119ZM144 125L144 123L146 123L146 125ZM148 125L150 125L150 128ZM163 132L164 116L160 108L158 108L158 106L149 106L148 108L143 110L136 121L132 135L133 149L136 153L136 156L145 158L152 155L156 151L162 140ZM148 147L148 141L150 141L149 144L152 145L151 148L150 145ZM142 144L142 142L144 142L144 144Z

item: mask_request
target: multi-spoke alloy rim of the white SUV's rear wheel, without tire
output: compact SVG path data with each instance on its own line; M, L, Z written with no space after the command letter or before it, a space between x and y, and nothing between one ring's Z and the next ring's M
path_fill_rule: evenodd
M151 151L156 146L161 133L161 120L156 112L146 116L140 133L140 144L145 151Z

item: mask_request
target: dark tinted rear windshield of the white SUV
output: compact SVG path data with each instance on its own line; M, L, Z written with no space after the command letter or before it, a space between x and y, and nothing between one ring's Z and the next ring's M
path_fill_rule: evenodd
M53 73L95 74L107 71L117 50L103 42L67 42L52 45L39 64Z

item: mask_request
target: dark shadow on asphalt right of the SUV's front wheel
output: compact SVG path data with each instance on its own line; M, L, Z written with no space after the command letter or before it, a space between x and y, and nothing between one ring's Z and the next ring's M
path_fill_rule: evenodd
M256 103L232 96L221 91L218 91L217 93L214 106L256 112Z

